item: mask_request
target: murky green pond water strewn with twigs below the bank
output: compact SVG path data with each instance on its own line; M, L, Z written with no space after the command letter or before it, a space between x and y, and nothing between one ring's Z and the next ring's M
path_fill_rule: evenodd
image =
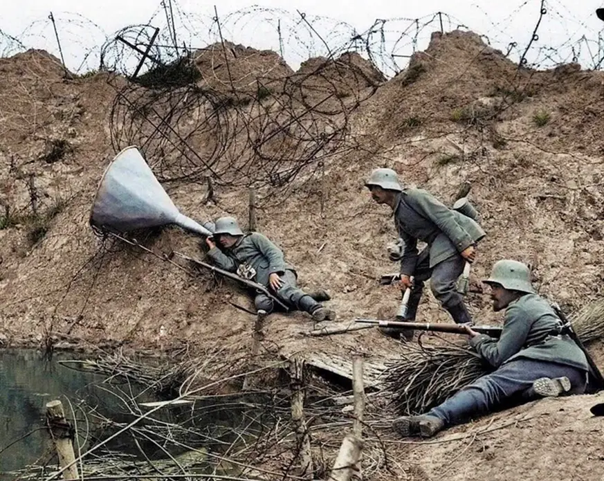
M130 410L133 406L136 410L136 403L161 400L143 386L107 383L107 376L70 369L60 363L66 359L74 358L55 354L48 361L33 350L0 350L0 480L14 479L15 475L8 473L28 465L51 462L56 466L56 461L51 461L51 443L45 426L48 401L62 401L70 421L75 412L80 448L84 452L90 443L96 444L118 429L108 428L102 419L127 424L138 417ZM136 402L131 401L135 398ZM221 452L225 446L243 442L246 433L271 425L275 413L268 405L268 400L262 397L212 399L196 403L194 410L191 406L163 409L154 413L154 418L173 426L170 439L179 435L174 426L183 428L183 442L171 445L170 456L202 447L204 451ZM147 421L142 421L140 427L145 424ZM133 442L131 433L125 433L105 448L133 460L163 459L167 451L160 444L167 443L161 439L161 433L155 433L154 426L147 433L160 436L155 440ZM74 448L77 456L77 445Z

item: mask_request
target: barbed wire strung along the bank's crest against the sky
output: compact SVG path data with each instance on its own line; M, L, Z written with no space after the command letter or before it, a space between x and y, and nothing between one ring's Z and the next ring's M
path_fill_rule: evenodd
M145 39L143 26L151 25L160 29L153 48L154 57L165 63L175 60L183 51L217 43L222 36L237 44L275 51L293 68L309 57L333 58L345 51L356 51L390 78L405 68L406 60L414 52L427 46L434 31L456 29L479 34L488 31L488 35L482 37L489 45L509 53L515 62L524 59L526 65L533 68L549 69L562 63L580 62L586 69L600 69L604 57L601 30L575 17L560 0L527 0L497 21L493 21L488 12L473 6L482 15L479 28L446 12L434 12L419 18L376 19L364 31L337 19L300 11L253 6L226 15L220 12L218 17L219 12L205 15L186 12L176 1L170 5L171 12L167 10L168 3L162 2L149 21L112 35L82 15L55 12L53 19L68 68L77 74L102 68L107 62L105 55L109 54L107 44L113 44L125 31L134 30L137 31L134 36L146 42L148 38ZM540 14L542 11L544 13ZM533 39L524 22L539 15L542 24L537 39ZM59 57L52 24L49 16L33 21L21 33L9 34L0 30L0 55L7 57L26 48L42 48ZM523 55L527 47L528 51ZM120 73L134 71L138 63L136 53L113 54L120 57ZM112 63L115 62L109 62Z

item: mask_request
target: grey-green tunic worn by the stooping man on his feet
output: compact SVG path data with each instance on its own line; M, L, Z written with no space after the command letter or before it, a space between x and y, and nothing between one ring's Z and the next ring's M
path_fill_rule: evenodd
M428 244L432 268L486 235L474 219L448 208L423 189L405 189L398 195L394 222L405 242L401 273L407 275L417 264L418 240Z

